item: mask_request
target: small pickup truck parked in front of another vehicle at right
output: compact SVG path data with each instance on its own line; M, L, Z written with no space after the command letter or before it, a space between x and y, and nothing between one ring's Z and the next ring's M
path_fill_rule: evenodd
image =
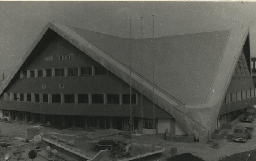
M252 139L253 127L236 126L233 131L232 140L246 143L247 139Z

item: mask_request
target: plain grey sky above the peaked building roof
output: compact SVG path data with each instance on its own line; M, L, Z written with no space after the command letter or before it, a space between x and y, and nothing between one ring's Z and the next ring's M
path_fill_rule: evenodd
M47 22L129 37L131 18L132 38L141 37L141 17L143 38L152 37L152 15L155 37L248 26L256 31L255 8L256 2L0 1L0 77L9 75Z

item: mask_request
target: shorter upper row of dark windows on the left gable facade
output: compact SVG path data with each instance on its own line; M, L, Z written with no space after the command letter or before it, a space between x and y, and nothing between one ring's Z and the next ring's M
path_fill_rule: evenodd
M67 76L78 76L80 75L92 75L93 70L92 67L84 67L80 68L80 73L78 73L78 68L67 68ZM43 77L43 70L37 70L38 77ZM94 74L95 75L106 75L107 70L104 67L94 67ZM45 76L46 77L52 77L52 69L45 69ZM55 69L55 75L54 76L65 76L65 69ZM23 71L23 77L27 78L28 73L27 71ZM30 77L35 77L35 71L30 70Z

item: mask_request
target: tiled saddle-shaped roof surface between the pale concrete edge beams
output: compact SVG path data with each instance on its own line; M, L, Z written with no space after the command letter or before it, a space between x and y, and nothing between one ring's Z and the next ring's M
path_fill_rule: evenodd
M215 31L129 39L69 28L139 75L143 69L150 82L155 54L155 85L183 104L205 103L229 36L229 31Z

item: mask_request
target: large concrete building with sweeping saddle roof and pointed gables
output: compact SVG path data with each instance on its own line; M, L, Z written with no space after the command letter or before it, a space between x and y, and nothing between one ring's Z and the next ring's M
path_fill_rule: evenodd
M254 105L250 66L246 28L129 39L48 23L4 80L0 118L127 130L131 85L133 129L153 133L154 88L155 133L205 139Z

